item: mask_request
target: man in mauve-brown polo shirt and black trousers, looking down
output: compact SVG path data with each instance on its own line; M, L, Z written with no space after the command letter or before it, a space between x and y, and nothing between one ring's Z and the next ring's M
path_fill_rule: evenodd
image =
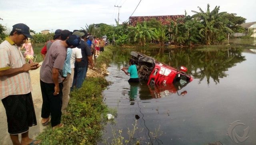
M40 69L40 86L43 98L41 123L42 125L48 125L51 122L52 129L64 125L60 123L60 120L62 116L62 77L64 77L62 69L67 48L74 48L80 44L80 39L76 35L70 34L68 30L61 32L62 40L56 40L52 43Z

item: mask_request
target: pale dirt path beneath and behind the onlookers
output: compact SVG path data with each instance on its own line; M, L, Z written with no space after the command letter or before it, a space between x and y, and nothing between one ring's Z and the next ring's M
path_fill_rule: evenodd
M42 62L40 63L42 64ZM103 67L101 71L106 73L106 66ZM32 126L29 129L29 136L32 137L33 139L40 133L45 127L41 125L41 109L42 109L42 94L41 94L41 88L40 88L40 68L29 71L30 72L30 77L31 77L31 84L32 84L32 98L33 98L33 103L34 103L34 108L36 112L36 120L37 120L37 125ZM88 69L87 76L103 76L103 74L99 74L92 69ZM10 139L10 135L8 133L8 128L7 128L7 121L6 121L6 112L4 109L4 106L2 103L0 103L0 145L12 145L12 141ZM21 137L20 137L21 139Z

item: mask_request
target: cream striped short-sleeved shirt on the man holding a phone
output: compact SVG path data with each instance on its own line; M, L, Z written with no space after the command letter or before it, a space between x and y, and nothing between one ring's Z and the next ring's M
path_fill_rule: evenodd
M0 44L0 71L20 68L26 63L18 46L8 37ZM14 76L0 76L0 99L32 91L29 72L21 72Z

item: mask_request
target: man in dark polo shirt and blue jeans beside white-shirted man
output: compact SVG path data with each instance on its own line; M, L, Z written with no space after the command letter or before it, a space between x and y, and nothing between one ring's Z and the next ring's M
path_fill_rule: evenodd
M76 88L82 87L88 69L88 61L90 62L91 67L94 67L94 63L92 61L91 48L86 43L86 37L86 34L81 37L81 43L78 46L78 48L80 48L82 52L82 60L80 62L75 62L72 89L74 88L74 86L76 86Z

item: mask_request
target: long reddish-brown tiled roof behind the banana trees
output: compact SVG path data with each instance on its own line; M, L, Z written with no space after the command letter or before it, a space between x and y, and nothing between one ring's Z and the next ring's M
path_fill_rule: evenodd
M184 15L166 15L166 16L131 16L129 18L129 24L135 26L137 22L149 21L152 18L160 21L163 25L170 24L169 20L174 20L178 18L184 18Z

